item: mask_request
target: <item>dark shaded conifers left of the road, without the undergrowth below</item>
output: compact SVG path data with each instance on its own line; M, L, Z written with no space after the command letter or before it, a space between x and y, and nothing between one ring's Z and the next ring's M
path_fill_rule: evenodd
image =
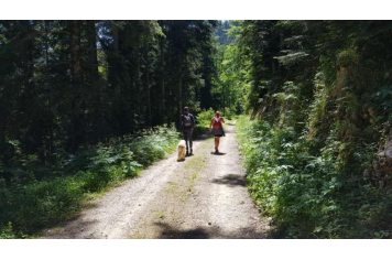
M216 25L0 21L0 161L13 164L19 142L52 164L58 151L177 122L185 106L210 107Z

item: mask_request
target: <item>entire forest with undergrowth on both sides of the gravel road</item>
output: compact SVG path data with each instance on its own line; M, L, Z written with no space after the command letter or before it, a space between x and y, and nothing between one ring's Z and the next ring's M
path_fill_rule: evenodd
M238 116L274 236L390 238L391 50L391 21L0 21L0 235L173 151L188 106Z

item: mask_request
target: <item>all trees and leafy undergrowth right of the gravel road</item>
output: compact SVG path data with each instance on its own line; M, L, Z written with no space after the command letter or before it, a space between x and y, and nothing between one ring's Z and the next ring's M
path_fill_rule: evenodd
M246 108L260 120L237 123L250 191L282 235L391 237L390 171L363 177L380 174L392 131L391 22L243 21L237 32Z

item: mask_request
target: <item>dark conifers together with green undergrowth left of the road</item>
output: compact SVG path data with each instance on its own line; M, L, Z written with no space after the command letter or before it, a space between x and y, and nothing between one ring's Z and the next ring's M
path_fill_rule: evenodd
M0 21L0 228L34 232L173 151L156 126L213 105L216 25Z

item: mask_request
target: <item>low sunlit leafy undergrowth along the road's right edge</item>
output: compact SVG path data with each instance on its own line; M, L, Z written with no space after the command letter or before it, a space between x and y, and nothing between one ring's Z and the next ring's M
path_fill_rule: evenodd
M340 170L333 149L318 153L292 128L241 117L236 126L248 189L277 237L391 238L392 192Z

